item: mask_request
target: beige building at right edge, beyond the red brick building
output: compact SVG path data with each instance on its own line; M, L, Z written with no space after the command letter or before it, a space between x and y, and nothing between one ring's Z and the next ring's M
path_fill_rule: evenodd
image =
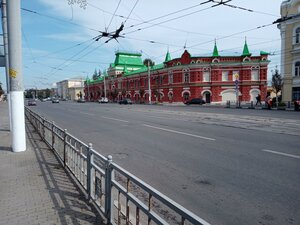
M280 12L282 100L300 100L300 0L283 1Z

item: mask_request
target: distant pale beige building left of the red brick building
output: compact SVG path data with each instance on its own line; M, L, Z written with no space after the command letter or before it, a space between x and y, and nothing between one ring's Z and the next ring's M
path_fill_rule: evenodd
M57 95L60 98L69 100L78 100L80 92L82 98L84 98L84 79L83 78L72 78L63 80L56 83Z

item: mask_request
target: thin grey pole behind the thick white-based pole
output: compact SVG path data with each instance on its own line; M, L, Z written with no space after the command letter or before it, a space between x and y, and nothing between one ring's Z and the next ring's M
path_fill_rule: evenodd
M10 103L10 84L9 84L9 60L8 60L8 34L7 34L7 7L6 0L2 0L2 30L3 30L3 43L4 43L4 58L5 58L5 74L6 74L6 92L8 102L8 114L9 114L9 130L12 130L11 122L11 103Z

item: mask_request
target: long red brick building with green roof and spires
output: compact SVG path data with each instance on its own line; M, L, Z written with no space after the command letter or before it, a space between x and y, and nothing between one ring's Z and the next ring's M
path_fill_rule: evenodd
M139 53L117 52L107 73L96 80L86 80L86 100L96 101L104 94L110 100L130 98L149 102L148 67ZM169 52L161 64L149 67L152 102L185 102L203 98L207 103L255 101L267 94L268 53L252 56L245 42L240 56L220 56L215 44L212 56L191 56L185 50L180 58ZM105 82L104 82L105 77Z

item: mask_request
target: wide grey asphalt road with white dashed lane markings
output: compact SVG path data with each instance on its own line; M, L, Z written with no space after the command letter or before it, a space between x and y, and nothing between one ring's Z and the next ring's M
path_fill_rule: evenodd
M38 102L45 115L211 224L300 224L300 113Z

